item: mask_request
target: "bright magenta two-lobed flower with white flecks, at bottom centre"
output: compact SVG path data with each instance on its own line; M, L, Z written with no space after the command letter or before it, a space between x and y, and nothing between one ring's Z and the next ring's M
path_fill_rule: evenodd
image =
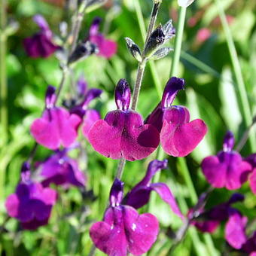
M110 256L141 255L157 239L159 225L150 213L139 215L131 206L120 204L123 182L116 179L111 187L110 206L103 221L90 227L90 237L101 251Z

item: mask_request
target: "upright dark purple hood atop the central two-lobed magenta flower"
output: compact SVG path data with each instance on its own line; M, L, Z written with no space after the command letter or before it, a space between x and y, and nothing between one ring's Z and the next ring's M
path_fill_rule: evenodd
M130 106L131 90L125 79L120 79L114 90L115 103L117 109L126 111Z

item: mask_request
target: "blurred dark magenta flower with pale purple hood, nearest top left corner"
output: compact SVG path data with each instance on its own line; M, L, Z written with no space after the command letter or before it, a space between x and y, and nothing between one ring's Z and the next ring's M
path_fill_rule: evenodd
M43 57L47 58L60 47L53 43L52 32L41 15L34 16L35 23L39 26L40 32L33 35L31 38L25 38L23 41L26 53L32 58Z

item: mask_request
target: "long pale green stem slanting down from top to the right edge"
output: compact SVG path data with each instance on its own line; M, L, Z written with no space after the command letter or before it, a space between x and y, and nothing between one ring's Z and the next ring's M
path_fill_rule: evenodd
M242 78L242 69L239 63L239 58L236 53L236 47L233 41L232 33L230 31L230 26L227 23L226 14L220 0L215 0L215 4L218 8L218 15L221 19L221 24L224 29L224 34L227 40L227 47L230 52L230 58L233 66L234 76L236 78L236 84L238 87L239 99L241 101L241 112L244 119L245 126L248 128L252 123L251 108L248 102L248 97L246 93L245 82ZM256 137L252 133L248 138L249 145L252 151L256 151Z

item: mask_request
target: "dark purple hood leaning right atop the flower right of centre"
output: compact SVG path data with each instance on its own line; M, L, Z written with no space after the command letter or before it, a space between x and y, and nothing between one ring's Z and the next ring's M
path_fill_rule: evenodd
M163 91L163 97L161 101L162 108L168 108L172 105L179 90L184 90L185 81L183 78L172 77L166 84Z

